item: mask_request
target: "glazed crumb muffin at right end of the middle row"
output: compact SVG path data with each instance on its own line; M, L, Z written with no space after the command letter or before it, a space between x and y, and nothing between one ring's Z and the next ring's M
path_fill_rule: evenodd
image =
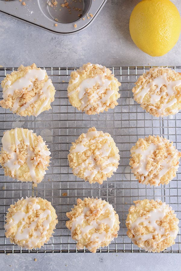
M173 142L149 135L139 138L131 148L129 165L140 183L158 186L168 184L176 176L180 157Z

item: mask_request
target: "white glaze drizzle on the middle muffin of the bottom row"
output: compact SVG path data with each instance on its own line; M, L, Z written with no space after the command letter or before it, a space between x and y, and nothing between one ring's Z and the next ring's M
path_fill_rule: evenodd
M97 203L101 202L101 199L99 200L95 200L95 202L93 203L93 205L95 206ZM101 243L105 240L107 240L107 238L110 237L111 234L111 229L114 226L115 223L115 213L113 210L113 206L110 205L109 203L107 203L102 210L99 210L99 217L101 214L104 214L107 210L109 210L109 216L107 218L104 218L102 220L99 220L97 218L97 220L93 220L91 222L91 225L87 225L85 227L82 226L82 223L86 220L86 213L87 211L89 211L90 208L89 207L84 207L84 209L82 210L82 214L78 217L76 217L76 219L74 221L72 221L72 226L71 226L71 236L73 237L73 232L75 230L75 228L79 225L80 230L81 230L81 234L78 236L78 239L76 239L77 241L80 240L82 237L84 237L85 234L88 235L88 237L90 238L91 242L94 242L95 244L90 244L87 246L87 248L90 250L93 247L97 247L100 246ZM109 227L108 231L105 232L103 231L102 233L99 232L95 232L93 234L90 234L89 231L90 230L98 230L98 228L100 227L100 224L105 224ZM78 245L77 248L79 249Z

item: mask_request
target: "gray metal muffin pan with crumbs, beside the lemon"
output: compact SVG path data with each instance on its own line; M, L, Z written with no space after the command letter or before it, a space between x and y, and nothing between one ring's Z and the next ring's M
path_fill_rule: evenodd
M0 0L0 12L55 34L70 35L89 26L107 0L56 1L54 6L48 5L51 0Z

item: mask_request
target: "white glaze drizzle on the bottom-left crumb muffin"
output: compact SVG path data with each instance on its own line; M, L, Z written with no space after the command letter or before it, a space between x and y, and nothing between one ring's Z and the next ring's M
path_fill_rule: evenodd
M31 203L31 197L30 198L27 198L26 197L26 200L25 200L25 205L31 205L32 206L32 209L31 211L29 211L28 213L24 213L24 210L26 208L26 206L24 207L24 210L19 210L17 211L14 216L12 216L12 219L10 220L10 222L8 222L7 224L5 224L5 229L9 229L11 227L14 227L14 225L17 225L19 222L21 222L21 225L17 228L17 232L16 232L16 235L15 235L15 238L18 240L18 241L24 241L23 245L26 249L29 249L29 248L33 248L33 247L36 247L38 242L40 241L46 241L46 233L47 233L47 230L49 229L49 225L52 221L52 218L51 218L51 211L46 209L43 211L43 213L41 213L38 217L36 217L36 219L33 220L33 222L31 222L28 227L24 228L24 225L25 225L25 221L26 219L28 218L28 216L30 216L33 212L35 212L36 210L39 210L40 209L40 205L35 203L35 204L32 204ZM43 226L40 226L38 225L37 227L37 224L43 219L43 218L46 218L42 225ZM30 236L32 234L32 229L35 229L37 227L37 230L33 231L33 235Z

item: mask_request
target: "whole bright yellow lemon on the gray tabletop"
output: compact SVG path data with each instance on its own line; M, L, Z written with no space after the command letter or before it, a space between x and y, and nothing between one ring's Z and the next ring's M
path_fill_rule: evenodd
M179 11L169 0L142 0L129 21L132 40L151 56L167 54L177 43L180 30Z

